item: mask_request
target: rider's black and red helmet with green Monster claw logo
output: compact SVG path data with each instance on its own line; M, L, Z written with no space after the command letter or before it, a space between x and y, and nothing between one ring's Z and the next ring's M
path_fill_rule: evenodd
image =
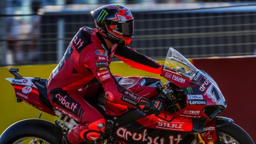
M128 46L133 38L133 16L126 7L106 5L91 12L98 32L112 43Z

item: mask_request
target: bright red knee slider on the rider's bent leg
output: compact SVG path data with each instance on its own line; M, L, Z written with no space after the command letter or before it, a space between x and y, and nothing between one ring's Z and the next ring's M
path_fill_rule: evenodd
M96 140L105 131L105 119L102 118L88 125L88 129L80 133L80 137L86 140Z

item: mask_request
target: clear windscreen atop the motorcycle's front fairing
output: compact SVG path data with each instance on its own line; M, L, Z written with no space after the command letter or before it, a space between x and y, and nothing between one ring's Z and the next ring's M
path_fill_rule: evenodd
M193 64L172 47L168 50L164 65L166 67L165 70L191 80L198 71Z

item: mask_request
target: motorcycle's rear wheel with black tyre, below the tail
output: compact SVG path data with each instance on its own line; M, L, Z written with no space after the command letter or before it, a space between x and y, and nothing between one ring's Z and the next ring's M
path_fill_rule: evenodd
M0 143L18 144L34 140L47 144L61 144L61 137L61 129L54 123L42 119L26 119L7 128L0 136Z

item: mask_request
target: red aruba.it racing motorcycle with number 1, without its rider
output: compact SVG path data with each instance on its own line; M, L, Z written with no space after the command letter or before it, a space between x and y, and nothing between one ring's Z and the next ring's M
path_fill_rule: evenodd
M14 78L6 80L13 85L17 102L26 102L60 120L16 122L3 132L0 143L61 143L62 134L77 125L77 120L50 105L47 79L22 77L18 68L9 71ZM86 143L254 143L232 119L217 116L227 104L216 82L173 48L168 50L161 76L165 83L152 77L115 75L118 83L133 93L163 99L164 110L159 115L148 114L111 103L101 95L95 107L105 116L106 129L100 138Z

